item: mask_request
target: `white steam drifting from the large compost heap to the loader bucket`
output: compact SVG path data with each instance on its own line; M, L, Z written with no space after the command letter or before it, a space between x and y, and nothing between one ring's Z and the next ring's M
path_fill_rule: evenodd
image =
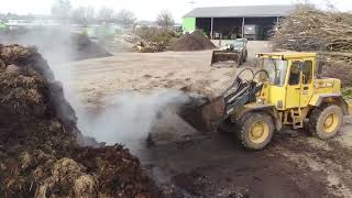
M189 97L178 90L160 90L150 95L121 94L112 99L113 103L96 112L89 112L81 103L77 89L73 87L74 68L70 62L77 57L77 48L73 43L69 30L63 28L54 30L34 30L11 36L1 36L4 44L35 45L38 52L48 61L55 78L62 81L65 98L69 101L78 116L78 128L84 135L95 138L107 144L124 144L135 148L145 140L155 121L165 112L175 112L177 108L189 100ZM55 36L54 36L55 35Z

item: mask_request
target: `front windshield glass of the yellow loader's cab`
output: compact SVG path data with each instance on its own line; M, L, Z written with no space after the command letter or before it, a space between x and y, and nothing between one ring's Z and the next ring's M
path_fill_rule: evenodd
M268 74L268 82L274 86L284 86L287 72L287 61L275 58L263 58L263 68Z

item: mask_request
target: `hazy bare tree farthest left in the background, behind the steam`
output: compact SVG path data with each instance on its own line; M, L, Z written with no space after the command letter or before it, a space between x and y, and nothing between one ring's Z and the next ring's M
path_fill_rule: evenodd
M68 22L72 11L69 0L55 0L52 6L52 16L61 22Z

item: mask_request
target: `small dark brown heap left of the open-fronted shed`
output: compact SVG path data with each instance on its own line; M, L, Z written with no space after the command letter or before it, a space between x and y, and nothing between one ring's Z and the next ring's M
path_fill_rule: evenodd
M204 51L216 48L215 44L202 32L195 31L176 40L169 47L172 51Z

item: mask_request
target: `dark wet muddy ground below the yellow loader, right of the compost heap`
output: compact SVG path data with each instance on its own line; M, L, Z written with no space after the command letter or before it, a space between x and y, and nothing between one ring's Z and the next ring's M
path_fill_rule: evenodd
M352 197L352 151L338 140L286 131L250 152L232 134L194 134L138 155L158 183L195 197Z

